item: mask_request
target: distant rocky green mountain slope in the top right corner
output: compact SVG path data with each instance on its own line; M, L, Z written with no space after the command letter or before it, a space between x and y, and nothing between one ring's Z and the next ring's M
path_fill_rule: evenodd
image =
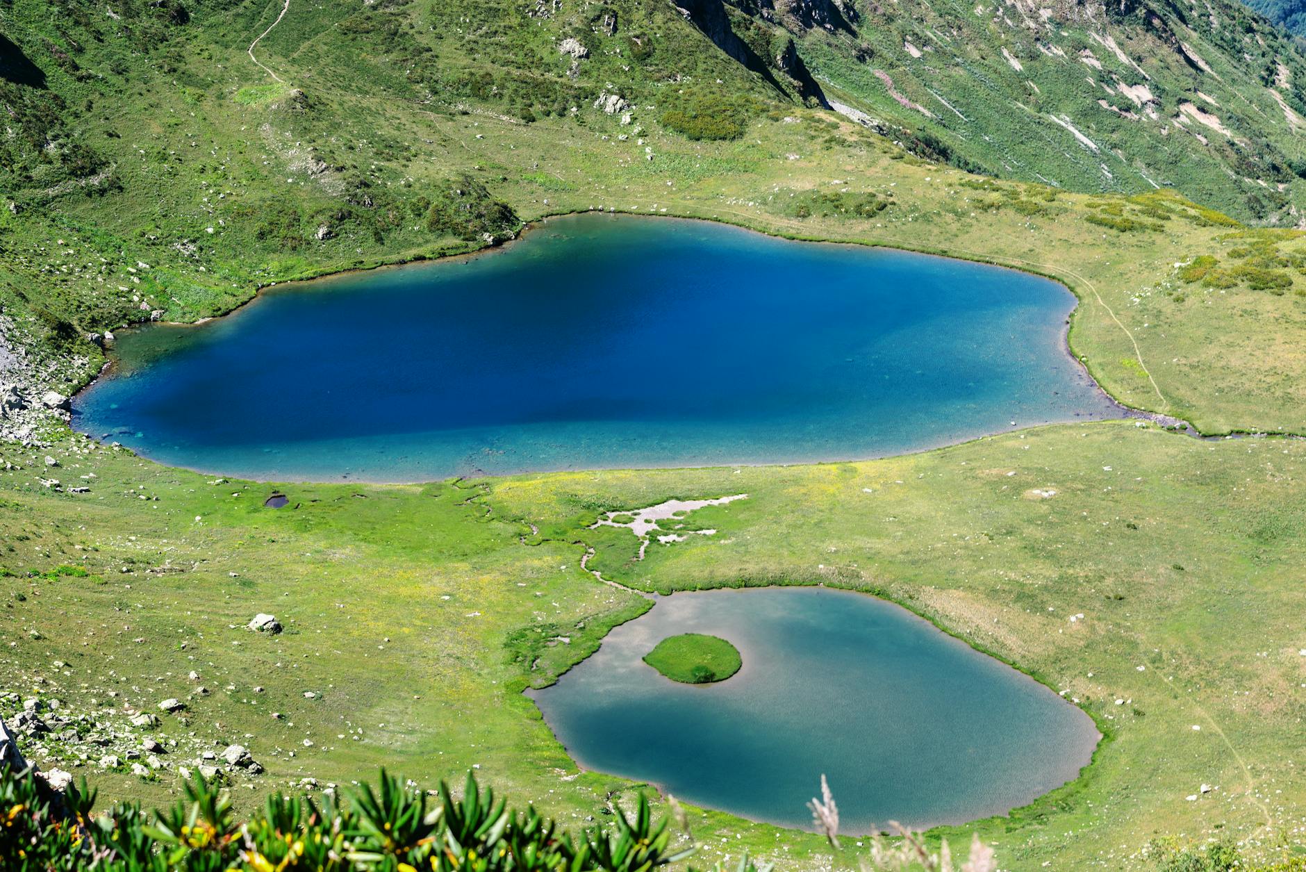
M918 151L1075 191L1302 219L1306 60L1230 0L734 0ZM704 3L699 4L705 5Z

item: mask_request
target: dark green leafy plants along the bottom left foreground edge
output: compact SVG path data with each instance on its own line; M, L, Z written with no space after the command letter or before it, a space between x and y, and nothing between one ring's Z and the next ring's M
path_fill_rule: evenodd
M688 858L670 850L666 821L640 796L615 829L577 841L533 807L515 813L469 773L462 795L440 802L381 770L342 803L274 792L246 824L227 794L196 773L185 799L146 817L136 804L93 816L85 785L56 792L33 770L0 766L0 868L47 872L652 872ZM724 872L724 871L722 871ZM767 872L746 864L738 872Z

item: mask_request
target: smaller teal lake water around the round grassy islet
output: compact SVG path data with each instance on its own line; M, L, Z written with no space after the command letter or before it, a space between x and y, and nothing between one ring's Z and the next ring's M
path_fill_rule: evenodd
M678 633L730 641L743 667L718 684L663 677L641 658ZM855 834L1024 805L1074 779L1100 739L1046 687L906 610L820 587L661 598L530 696L586 769L807 829L825 774Z

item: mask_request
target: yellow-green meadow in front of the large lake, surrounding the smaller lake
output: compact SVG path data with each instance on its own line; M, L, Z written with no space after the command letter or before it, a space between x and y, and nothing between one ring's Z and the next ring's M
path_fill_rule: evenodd
M24 697L178 740L146 779L127 760L101 769L116 740L26 744L93 775L104 800L159 800L178 765L236 741L268 770L230 775L243 808L273 786L343 785L379 761L421 783L475 765L571 826L637 788L579 771L520 693L648 607L581 568L593 547L590 569L640 589L870 590L1077 701L1107 736L1081 781L936 833L956 843L977 829L1002 868L1147 868L1157 837L1230 835L1272 859L1299 842L1306 803L1285 757L1306 681L1303 452L1124 422L867 463L289 486L290 506L265 509L272 486L80 437L7 445L0 466L22 469L0 473L0 667ZM90 492L40 487L44 453ZM586 529L605 510L738 492L748 499L683 521L714 535L644 561L629 530ZM285 632L247 629L257 612ZM170 697L187 709L159 713ZM161 726L133 731L136 710ZM744 847L786 869L832 860L815 835L727 815L692 811L691 829L704 864ZM844 845L833 859L854 865L855 839Z

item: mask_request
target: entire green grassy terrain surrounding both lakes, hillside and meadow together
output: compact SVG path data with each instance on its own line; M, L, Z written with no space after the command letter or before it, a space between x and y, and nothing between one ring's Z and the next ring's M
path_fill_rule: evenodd
M1051 33L1017 7L957 9L948 27L925 5L859 4L844 23L837 5L690 7L291 0L278 21L279 3L0 3L0 382L37 406L84 384L120 324L218 315L260 285L603 209L1045 273L1079 296L1071 346L1123 402L1208 432L1306 432L1306 240L1216 209L1293 221L1299 181L1256 162L1297 154L1271 91L1302 110L1290 85L1255 81L1271 56L1301 61L1263 23L1213 3L1218 27L1181 30L1157 12L1213 70L1199 73L1158 54L1140 8L1088 23L1055 17L1087 8L1054 10ZM854 64L861 42L870 60ZM1037 91L1013 102L1025 78L1002 48ZM1237 52L1251 56L1238 69ZM1085 76L1139 117L1085 103ZM985 127L939 108L927 80ZM819 108L814 84L885 123ZM1157 119L1121 98L1141 85ZM1213 102L1174 127L1195 89ZM1202 133L1205 115L1234 136ZM939 144L1012 179L919 157L944 157ZM384 760L424 782L479 766L568 824L602 815L637 786L579 773L518 693L646 607L581 569L593 547L589 568L646 589L876 591L1077 698L1110 740L1080 782L977 825L1003 868L1145 867L1157 837L1234 834L1263 859L1301 841L1306 785L1285 764L1306 681L1296 440L1109 423L871 463L295 486L298 508L273 510L269 487L162 469L46 411L0 426L0 666L16 676L0 713L60 700L76 735L31 756L114 798L172 792L178 762L239 740L268 770L230 775L246 807ZM602 510L741 491L693 517L717 535L643 563L628 531L585 529ZM257 612L285 632L247 629ZM167 698L187 708L163 714ZM154 734L131 723L142 709L176 741L167 774L102 768L101 740ZM692 818L717 854L832 862L812 835Z

